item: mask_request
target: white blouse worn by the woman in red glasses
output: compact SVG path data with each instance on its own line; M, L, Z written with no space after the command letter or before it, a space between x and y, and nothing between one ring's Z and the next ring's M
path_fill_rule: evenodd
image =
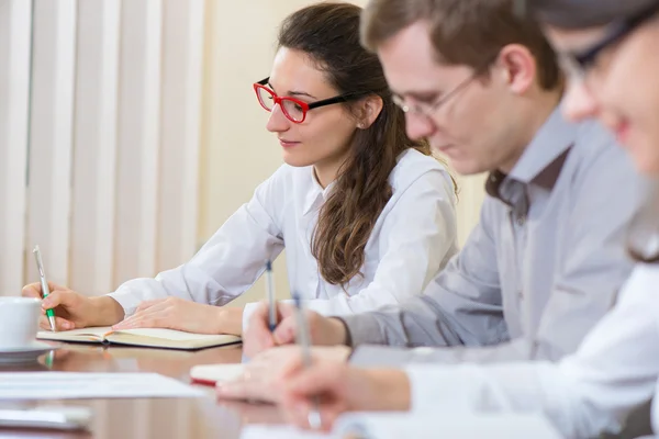
M319 210L332 185L317 183L312 167L280 167L194 257L154 279L135 279L110 296L126 315L145 300L178 296L222 306L261 275L265 262L286 248L291 291L323 314L360 313L421 294L457 251L456 196L445 167L409 149L389 176L393 194L365 248L364 277L344 289L327 283L311 252ZM247 322L256 304L243 314Z

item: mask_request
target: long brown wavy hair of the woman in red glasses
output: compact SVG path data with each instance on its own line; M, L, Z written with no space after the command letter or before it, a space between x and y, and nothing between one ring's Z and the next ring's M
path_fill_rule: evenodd
M319 3L289 15L278 46L305 53L338 93L368 92L382 99L382 111L367 130L357 130L347 160L319 214L312 254L323 278L345 288L361 274L364 249L378 216L392 195L389 175L409 148L429 155L427 143L405 134L405 117L392 101L378 57L359 43L361 8ZM344 104L350 114L355 102Z

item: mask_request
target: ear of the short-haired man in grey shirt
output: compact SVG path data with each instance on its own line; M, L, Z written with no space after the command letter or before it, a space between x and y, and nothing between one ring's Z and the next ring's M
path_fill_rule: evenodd
M503 80L515 94L523 94L536 82L537 65L530 50L521 44L509 44L501 49L498 65Z

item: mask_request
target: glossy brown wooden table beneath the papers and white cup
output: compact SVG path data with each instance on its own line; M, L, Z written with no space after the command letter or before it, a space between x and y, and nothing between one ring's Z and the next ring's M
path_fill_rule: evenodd
M56 345L56 344L53 344ZM188 372L196 364L236 363L242 347L228 346L196 352L102 347L99 345L60 344L51 357L38 363L0 365L1 372L69 371L69 372L156 372L182 382L190 382ZM202 398L142 399L62 399L2 402L2 407L38 405L75 405L93 409L89 432L52 430L0 430L0 438L228 438L239 437L247 423L281 423L273 406L217 402L212 387L199 386L208 393Z

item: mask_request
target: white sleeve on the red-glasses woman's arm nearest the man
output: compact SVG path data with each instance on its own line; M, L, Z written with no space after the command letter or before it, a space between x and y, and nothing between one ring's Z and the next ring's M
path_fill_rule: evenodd
M423 292L457 250L455 194L445 171L433 169L410 184L371 241L381 255L373 280L354 295L311 300L310 309L324 315L361 313Z

